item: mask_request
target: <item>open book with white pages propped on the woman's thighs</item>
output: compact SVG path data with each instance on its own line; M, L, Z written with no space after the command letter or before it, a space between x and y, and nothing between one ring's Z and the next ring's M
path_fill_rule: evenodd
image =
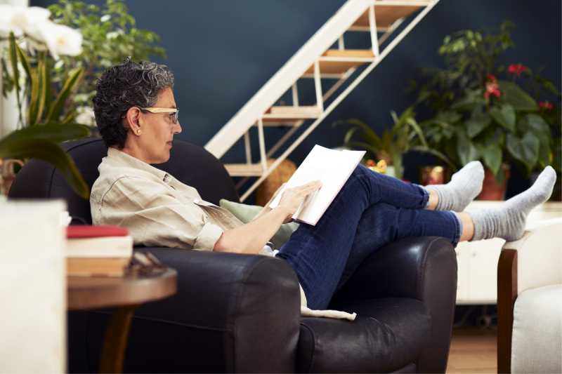
M270 203L270 208L275 208L279 204L285 189L306 185L313 180L321 180L322 188L306 196L299 210L293 215L293 220L297 222L316 225L364 154L365 151L336 151L315 145L287 185Z

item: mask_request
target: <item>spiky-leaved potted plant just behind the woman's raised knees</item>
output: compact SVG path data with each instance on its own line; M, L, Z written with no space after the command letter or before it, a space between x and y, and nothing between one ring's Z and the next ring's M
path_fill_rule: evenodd
M386 128L382 137L359 119L347 119L345 121L336 121L332 126L338 124L347 124L352 127L346 132L344 137L344 146L355 149L365 149L367 153L363 162L371 157L379 161L385 161L386 174L403 179L404 168L402 164L403 156L410 151L421 153L429 153L437 156L457 171L455 165L443 154L436 149L428 146L423 131L415 120L414 105L407 107L405 111L396 115L391 111L394 121L392 128Z

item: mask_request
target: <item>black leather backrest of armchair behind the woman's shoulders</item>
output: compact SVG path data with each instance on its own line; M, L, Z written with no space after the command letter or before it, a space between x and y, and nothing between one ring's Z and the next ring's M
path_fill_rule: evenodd
M170 159L155 167L174 175L185 185L195 187L202 199L218 205L220 199L240 201L232 178L221 161L206 149L185 140L174 140ZM99 176L98 165L107 156L100 138L66 142L61 145L76 163L91 188ZM8 194L9 199L65 199L73 217L91 223L90 202L81 199L50 164L32 159L18 173Z

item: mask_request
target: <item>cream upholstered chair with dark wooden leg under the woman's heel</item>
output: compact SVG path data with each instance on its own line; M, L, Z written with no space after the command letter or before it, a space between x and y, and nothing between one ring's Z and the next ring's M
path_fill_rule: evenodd
M498 373L562 373L562 218L504 244L497 291Z

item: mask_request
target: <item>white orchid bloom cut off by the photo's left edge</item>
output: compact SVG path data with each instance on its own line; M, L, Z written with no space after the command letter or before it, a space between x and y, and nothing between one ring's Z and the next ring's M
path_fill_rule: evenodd
M13 6L0 4L0 34L13 32L16 37L27 34L38 41L37 27L48 21L51 12L39 6Z

